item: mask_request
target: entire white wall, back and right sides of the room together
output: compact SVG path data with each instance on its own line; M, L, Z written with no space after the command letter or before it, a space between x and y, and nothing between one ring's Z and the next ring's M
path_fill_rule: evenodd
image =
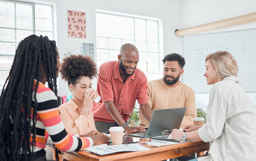
M182 54L182 38L174 30L219 21L255 12L255 0L45 0L56 4L57 45L61 58L71 51L78 53L80 42L96 44L96 9L162 19L164 54ZM39 1L38 1L39 2ZM67 38L67 9L86 11L86 39ZM255 28L256 22L237 25L212 32ZM61 79L60 79L61 80ZM95 84L95 83L94 83ZM67 85L60 81L59 95L69 94ZM95 87L95 85L94 85Z

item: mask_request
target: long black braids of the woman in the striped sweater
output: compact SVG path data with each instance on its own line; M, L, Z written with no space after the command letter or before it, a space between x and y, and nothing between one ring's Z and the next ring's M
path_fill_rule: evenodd
M49 88L57 95L55 42L46 36L35 35L22 40L0 97L0 160L32 159L36 145L36 91L41 78L41 61Z

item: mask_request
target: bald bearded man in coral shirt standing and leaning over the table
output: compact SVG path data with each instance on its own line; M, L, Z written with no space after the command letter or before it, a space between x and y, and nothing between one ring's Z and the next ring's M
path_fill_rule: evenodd
M92 109L96 129L108 133L110 127L123 126L128 133L145 131L142 127L127 125L136 99L147 121L150 121L152 115L148 104L147 78L136 68L139 52L132 44L124 44L118 59L106 62L99 68L97 91L102 99Z

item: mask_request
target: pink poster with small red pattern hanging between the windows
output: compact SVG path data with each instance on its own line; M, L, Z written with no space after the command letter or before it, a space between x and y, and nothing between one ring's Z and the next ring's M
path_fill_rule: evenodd
M86 12L67 10L69 38L86 38Z

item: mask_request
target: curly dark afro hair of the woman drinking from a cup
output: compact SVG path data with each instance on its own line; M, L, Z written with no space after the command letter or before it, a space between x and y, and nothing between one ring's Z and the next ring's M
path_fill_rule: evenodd
M61 78L67 81L68 85L75 85L82 76L90 79L97 76L97 68L90 56L71 55L63 59L61 64Z

